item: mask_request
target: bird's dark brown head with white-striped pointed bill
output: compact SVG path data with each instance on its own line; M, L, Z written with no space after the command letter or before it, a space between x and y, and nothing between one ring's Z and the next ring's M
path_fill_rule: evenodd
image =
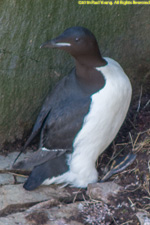
M42 44L41 48L63 49L75 59L87 55L100 55L96 38L84 27L68 28L58 37Z

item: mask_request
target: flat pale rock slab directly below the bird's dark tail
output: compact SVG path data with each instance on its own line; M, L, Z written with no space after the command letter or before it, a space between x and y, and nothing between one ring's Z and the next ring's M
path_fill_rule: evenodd
M23 189L22 184L4 185L0 187L0 216L9 212L19 211L38 202L55 199L70 198L71 194L59 186L44 186L29 192Z

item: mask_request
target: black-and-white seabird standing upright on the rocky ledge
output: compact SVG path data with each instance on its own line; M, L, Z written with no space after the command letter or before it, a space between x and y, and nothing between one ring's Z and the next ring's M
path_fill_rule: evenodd
M30 168L28 191L53 183L86 188L98 181L96 161L126 118L131 83L118 62L102 57L85 27L67 28L45 48L69 53L75 66L46 97L22 151L40 133L39 148L13 167Z

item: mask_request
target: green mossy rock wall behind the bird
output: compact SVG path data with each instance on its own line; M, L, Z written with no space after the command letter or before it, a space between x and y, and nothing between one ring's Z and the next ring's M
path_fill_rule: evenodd
M134 94L141 85L148 90L149 15L150 6L0 0L0 146L21 139L31 129L48 91L72 68L66 53L39 48L68 27L89 28L102 55L123 66Z

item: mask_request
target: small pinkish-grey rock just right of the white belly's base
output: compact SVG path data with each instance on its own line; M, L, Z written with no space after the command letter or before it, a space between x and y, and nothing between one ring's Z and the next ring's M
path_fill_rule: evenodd
M87 195L95 200L102 200L105 203L109 202L110 196L115 196L122 187L114 182L104 182L89 184L87 188Z

